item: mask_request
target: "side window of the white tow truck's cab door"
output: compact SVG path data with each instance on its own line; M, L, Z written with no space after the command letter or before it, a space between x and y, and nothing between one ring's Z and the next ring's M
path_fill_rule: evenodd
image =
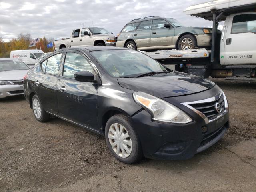
M236 15L233 18L231 33L256 33L256 14Z

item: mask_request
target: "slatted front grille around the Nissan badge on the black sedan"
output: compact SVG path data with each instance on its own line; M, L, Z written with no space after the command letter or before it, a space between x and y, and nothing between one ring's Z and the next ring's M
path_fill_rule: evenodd
M221 112L218 113L215 105L216 103L219 103L221 106ZM208 120L212 120L216 118L218 115L222 114L225 111L225 101L224 101L224 96L221 94L221 96L212 102L207 102L207 103L197 103L197 104L189 104L196 110L200 111L202 114L204 114Z

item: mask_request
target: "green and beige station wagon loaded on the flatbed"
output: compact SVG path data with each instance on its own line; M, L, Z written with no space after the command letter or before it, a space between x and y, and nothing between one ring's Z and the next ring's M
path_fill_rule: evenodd
M116 46L138 50L207 48L212 28L184 26L176 19L149 16L134 19L118 34Z

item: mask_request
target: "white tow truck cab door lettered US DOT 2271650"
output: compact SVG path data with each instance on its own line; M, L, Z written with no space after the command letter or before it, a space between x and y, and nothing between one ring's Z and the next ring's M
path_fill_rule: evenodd
M226 30L226 37L223 42L224 63L255 63L256 14L254 12L248 12L231 15Z

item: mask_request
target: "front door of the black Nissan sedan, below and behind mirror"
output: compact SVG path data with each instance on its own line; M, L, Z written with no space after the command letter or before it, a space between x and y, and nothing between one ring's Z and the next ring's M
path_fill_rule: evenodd
M97 126L97 91L95 82L78 82L74 73L89 71L96 76L88 59L80 52L66 52L62 76L58 78L60 116L94 130Z

